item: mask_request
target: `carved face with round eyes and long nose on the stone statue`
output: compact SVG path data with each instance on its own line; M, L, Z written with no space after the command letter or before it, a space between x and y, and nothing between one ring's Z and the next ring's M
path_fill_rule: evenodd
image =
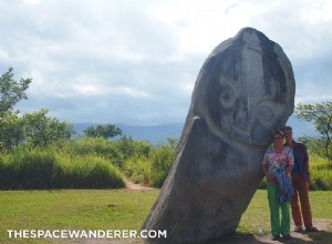
M219 67L203 79L208 80L203 113L215 134L267 145L292 111L292 85L287 85L292 69L276 55L278 47L262 47L256 33L238 39L209 60Z

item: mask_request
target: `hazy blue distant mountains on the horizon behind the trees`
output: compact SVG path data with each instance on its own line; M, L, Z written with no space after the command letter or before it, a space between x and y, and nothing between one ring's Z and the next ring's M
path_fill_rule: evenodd
M312 123L298 120L294 115L288 120L288 125L293 128L294 138L303 135L318 135ZM77 135L83 135L87 126L95 126L96 123L76 123L74 129ZM123 135L132 136L133 140L148 141L152 144L165 143L167 138L179 139L184 129L184 123L169 123L160 125L126 125L115 124L123 131Z

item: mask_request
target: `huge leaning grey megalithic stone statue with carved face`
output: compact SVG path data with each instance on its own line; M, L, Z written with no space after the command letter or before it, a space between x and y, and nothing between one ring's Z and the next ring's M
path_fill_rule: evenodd
M142 230L145 243L201 243L236 232L261 179L271 132L294 106L291 63L263 33L243 28L205 61L173 167Z

